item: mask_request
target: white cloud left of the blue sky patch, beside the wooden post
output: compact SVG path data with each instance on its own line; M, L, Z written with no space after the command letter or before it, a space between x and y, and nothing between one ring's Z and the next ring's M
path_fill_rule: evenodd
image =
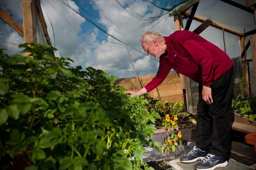
M75 12L79 7L71 0L44 0L41 1L41 6L52 45L55 45L60 55L72 56L81 44L78 33L82 30L81 24L85 22L85 19Z

